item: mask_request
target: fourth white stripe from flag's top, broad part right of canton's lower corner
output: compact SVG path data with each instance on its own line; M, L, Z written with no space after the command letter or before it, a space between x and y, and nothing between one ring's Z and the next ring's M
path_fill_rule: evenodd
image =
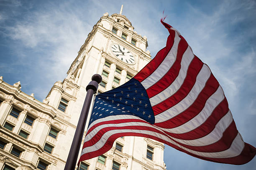
M183 125L180 125L176 128L170 128L170 129L160 128L160 129L164 130L166 132L169 132L169 133L177 133L177 134L187 133L191 130L194 130L195 128L202 125L202 123L204 123L208 117L210 117L213 110L220 104L220 102L223 101L224 97L225 96L224 96L223 90L219 85L216 92L213 93L211 95L211 97L209 97L209 99L205 103L204 108L198 115L196 115L188 122L186 122Z

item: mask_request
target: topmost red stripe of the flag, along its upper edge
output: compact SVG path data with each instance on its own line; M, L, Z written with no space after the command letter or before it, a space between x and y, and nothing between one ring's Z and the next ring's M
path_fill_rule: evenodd
M161 49L156 54L156 57L154 57L154 59L152 59L140 72L138 72L134 76L136 80L138 80L139 82L142 82L157 69L157 67L161 64L161 62L163 62L168 52L171 50L174 43L174 37L175 37L175 32L172 31L169 37L167 38L166 47Z

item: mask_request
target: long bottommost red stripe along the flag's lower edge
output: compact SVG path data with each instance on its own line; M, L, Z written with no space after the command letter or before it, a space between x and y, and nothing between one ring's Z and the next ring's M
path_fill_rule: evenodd
M99 148L99 150L96 150L94 152L90 152L90 153L86 153L84 155L81 155L79 162L81 162L82 160L88 160L91 158L95 158L97 156L102 155L103 153L106 153L108 150L110 150L110 148L112 148L113 143L115 142L115 140L121 136L140 136L140 137L145 137L145 138L151 138L154 140L157 140L159 142L165 143L166 145L169 145L179 151L182 151L184 153L187 153L188 155L194 156L196 158L200 158L203 160L208 160L211 162L217 162L217 163L228 163L228 164L234 164L234 165L242 165L245 163L248 163L255 155L256 155L256 148L254 148L253 146L245 143L245 147L243 149L243 151L241 152L240 155L236 156L236 157L232 157L232 158L207 158L207 157L202 157L202 156L198 156L192 153L187 152L186 150L183 150L181 148L179 148L178 146L166 142L165 140L162 140L161 138L157 138L155 136L152 135L146 135L146 134L140 134L140 133L117 133L117 134L113 134L110 136L110 138L108 138L107 142L105 143L105 145L103 145L102 148Z

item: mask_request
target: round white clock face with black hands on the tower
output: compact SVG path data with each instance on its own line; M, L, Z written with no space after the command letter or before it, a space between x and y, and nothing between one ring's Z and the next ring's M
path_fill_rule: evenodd
M117 57L119 60L125 62L126 64L134 64L135 58L133 54L127 50L123 45L114 44L111 45L112 53Z

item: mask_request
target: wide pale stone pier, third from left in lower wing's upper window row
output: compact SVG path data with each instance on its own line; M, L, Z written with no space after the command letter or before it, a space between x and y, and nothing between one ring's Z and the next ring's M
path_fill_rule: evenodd
M35 120L35 124L33 125L33 130L31 132L31 141L34 143L38 143L43 148L46 137L49 134L50 127L51 123L49 122L49 120L38 117Z

